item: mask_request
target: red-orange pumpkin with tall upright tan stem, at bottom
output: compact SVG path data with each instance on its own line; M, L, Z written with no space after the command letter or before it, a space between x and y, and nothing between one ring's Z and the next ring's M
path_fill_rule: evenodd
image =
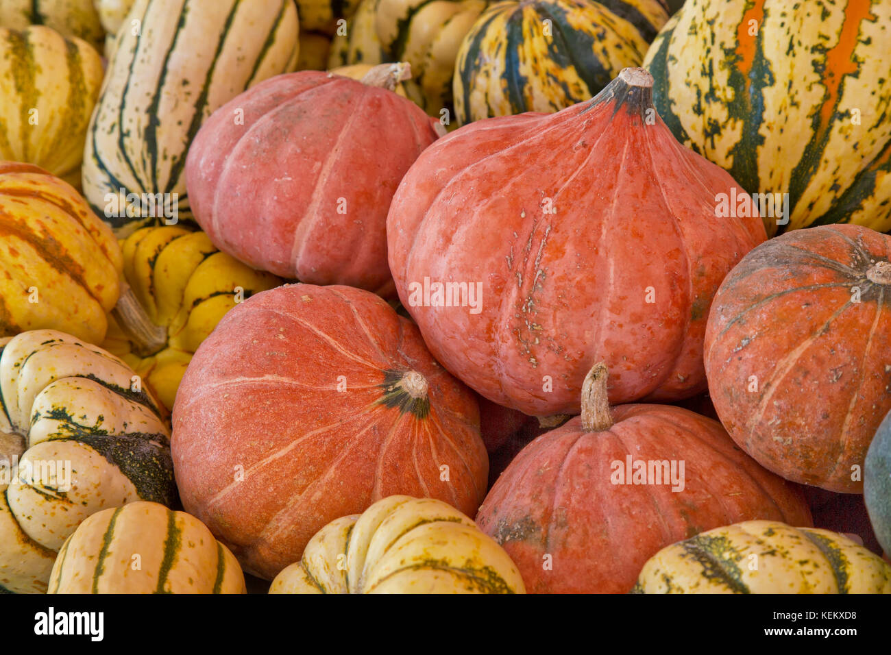
M582 415L517 455L477 523L529 593L624 594L666 545L752 519L811 525L800 488L761 468L720 423L671 405L610 412L597 364Z

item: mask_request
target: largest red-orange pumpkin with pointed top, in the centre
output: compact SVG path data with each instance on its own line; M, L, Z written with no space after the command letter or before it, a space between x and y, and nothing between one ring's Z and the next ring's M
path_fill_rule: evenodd
M625 69L555 114L462 127L393 198L403 305L433 355L499 405L578 413L601 359L616 403L706 389L708 307L766 235L760 218L715 216L735 183L674 140L651 86Z

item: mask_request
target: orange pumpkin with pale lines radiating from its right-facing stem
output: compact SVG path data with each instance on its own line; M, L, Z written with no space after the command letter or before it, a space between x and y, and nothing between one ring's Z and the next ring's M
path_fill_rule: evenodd
M368 291L294 284L234 307L192 358L173 426L186 511L268 579L380 498L473 516L486 494L476 399Z

